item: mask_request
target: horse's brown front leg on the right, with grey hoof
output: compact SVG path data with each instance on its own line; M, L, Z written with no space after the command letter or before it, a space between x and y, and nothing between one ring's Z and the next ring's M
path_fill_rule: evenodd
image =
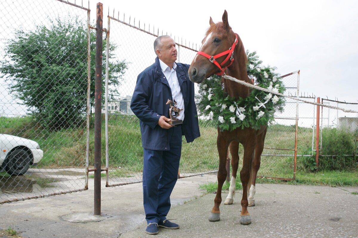
M247 211L248 201L247 194L249 186L251 185L251 173L252 173L252 164L253 156L255 151L256 138L252 135L251 138L248 138L245 141L244 146L244 156L242 162L242 169L240 171L240 179L242 184L242 199L241 199L241 214L240 214L240 223L243 225L251 224L250 213Z

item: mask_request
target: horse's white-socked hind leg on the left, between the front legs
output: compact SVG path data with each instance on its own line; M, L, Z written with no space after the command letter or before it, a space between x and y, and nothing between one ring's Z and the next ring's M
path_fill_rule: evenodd
M225 199L224 204L232 204L234 202L235 191L236 191L236 173L237 168L239 166L239 142L232 141L229 145L230 153L231 153L231 181L229 187L229 194Z

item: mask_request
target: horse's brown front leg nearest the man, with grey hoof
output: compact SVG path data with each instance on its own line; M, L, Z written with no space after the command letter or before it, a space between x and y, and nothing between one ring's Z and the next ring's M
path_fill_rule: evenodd
M218 138L217 138L217 147L219 152L219 171L218 171L218 191L216 192L216 197L214 199L214 207L211 210L209 221L217 222L220 220L220 204L222 201L221 198L221 189L226 179L226 156L227 156L227 149L229 146L229 142L220 135L218 131Z

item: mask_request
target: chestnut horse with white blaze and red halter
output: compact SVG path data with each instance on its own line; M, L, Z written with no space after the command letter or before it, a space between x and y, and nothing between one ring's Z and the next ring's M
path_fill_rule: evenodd
M240 37L234 33L229 26L227 12L224 11L222 22L215 24L210 17L210 27L202 41L202 47L195 56L189 67L189 77L192 82L201 83L205 78L218 75L229 75L238 80L251 83L247 76L247 57ZM229 59L230 58L230 59ZM250 89L234 81L222 77L224 91L231 97L238 99L250 95ZM242 183L242 211L240 223L248 225L251 223L248 206L255 206L253 195L255 194L255 181L257 171L260 168L261 153L265 141L267 125L261 126L260 130L252 128L237 128L233 131L221 131L218 128L217 147L219 152L218 190L211 210L209 221L220 220L221 190L226 179L226 158L228 148L232 160L232 177L229 194L224 204L232 204L235 194L236 173L238 169L239 143L243 145L244 154L240 179ZM251 188L250 188L251 186ZM250 191L250 194L249 194ZM248 199L249 198L249 199Z

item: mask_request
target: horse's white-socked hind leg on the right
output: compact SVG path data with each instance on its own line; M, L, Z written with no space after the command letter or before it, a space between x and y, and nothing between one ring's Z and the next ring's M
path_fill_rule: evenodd
M260 135L257 136L257 140L256 140L256 148L255 148L255 157L253 159L253 173L252 173L252 183L251 183L251 187L250 187L250 191L249 191L249 195L248 195L248 206L249 207L253 207L255 206L255 193L256 193L256 176L257 176L257 172L258 169L260 169L260 164L261 164L261 154L263 151L263 144L265 143L265 136L266 136L266 132L267 132L267 127L265 129L265 131L263 131Z

